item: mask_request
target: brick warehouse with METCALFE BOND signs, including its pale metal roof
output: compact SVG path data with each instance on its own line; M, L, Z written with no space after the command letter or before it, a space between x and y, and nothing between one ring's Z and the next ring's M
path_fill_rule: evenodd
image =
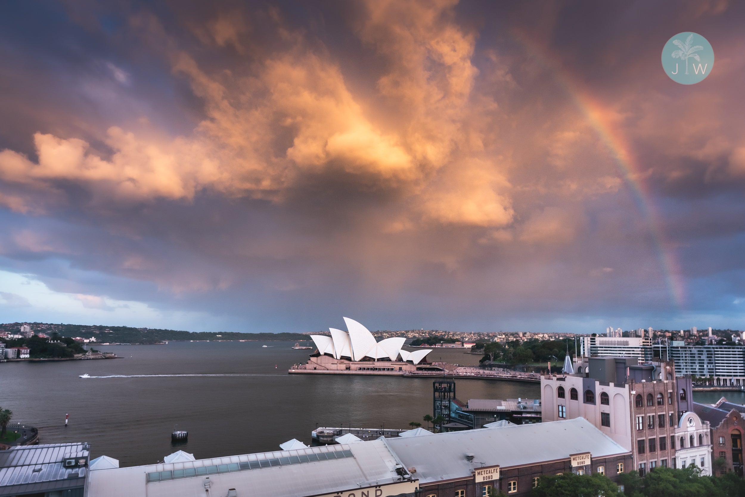
M481 497L488 487L527 496L541 475L633 469L631 452L582 417L386 440L422 497Z

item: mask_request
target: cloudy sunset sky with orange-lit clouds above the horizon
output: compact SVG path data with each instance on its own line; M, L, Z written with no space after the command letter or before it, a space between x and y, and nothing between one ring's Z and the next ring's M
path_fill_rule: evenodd
M0 321L745 328L743 2L4 1ZM665 42L708 39L681 85Z

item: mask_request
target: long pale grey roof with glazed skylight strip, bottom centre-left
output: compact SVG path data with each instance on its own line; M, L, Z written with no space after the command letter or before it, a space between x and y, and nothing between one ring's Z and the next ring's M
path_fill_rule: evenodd
M299 458L301 455L318 455L328 452L349 452L352 457L328 459L326 461L286 461L279 466L244 469L251 462L271 459L285 461L285 458ZM337 446L309 447L307 449L264 452L260 454L235 455L226 458L203 459L174 464L150 464L118 469L101 469L89 472L88 496L128 497L147 493L148 497L188 497L205 495L204 481L209 477L212 484L210 493L225 495L226 490L235 488L238 495L250 493L251 496L302 497L337 493L402 481L396 473L396 456L387 449L383 440L371 440ZM221 465L238 466L238 469L224 467L224 471L210 472L208 475L181 477L192 468ZM252 465L253 466L253 465ZM180 477L174 478L173 473ZM148 482L148 473L166 472L171 476L163 481ZM190 472L190 473L191 473ZM147 490L146 490L147 489Z

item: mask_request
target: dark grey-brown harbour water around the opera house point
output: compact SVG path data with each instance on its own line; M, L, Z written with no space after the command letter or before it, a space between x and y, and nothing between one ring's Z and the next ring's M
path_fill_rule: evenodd
M291 438L310 443L317 423L426 426L432 379L290 375L288 368L311 352L293 345L95 345L124 359L4 363L0 405L13 411L13 422L37 426L41 443L90 442L93 457L109 455L122 466L161 461L177 449L211 458L278 450ZM430 355L460 365L479 358L462 349ZM80 378L84 373L105 377ZM538 396L539 385L530 383L457 380L462 400ZM187 443L171 444L174 425L188 431Z

